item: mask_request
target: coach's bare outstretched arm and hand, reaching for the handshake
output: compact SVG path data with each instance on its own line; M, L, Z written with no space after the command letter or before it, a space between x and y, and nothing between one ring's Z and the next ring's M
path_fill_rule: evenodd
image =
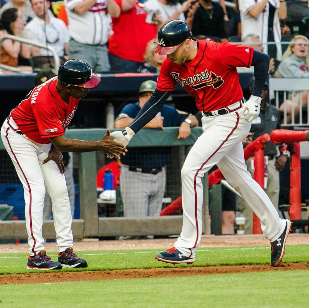
M92 152L104 151L108 155L120 158L128 150L121 143L110 138L111 131L107 129L107 134L100 141L83 141L78 139L66 139L64 135L51 137L49 140L61 152Z

